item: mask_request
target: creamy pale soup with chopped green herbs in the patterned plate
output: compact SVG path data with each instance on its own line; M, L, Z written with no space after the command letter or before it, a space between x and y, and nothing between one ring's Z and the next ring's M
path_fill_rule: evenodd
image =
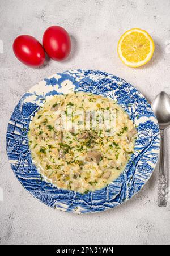
M104 188L122 173L136 137L121 106L84 92L53 96L36 112L28 132L42 177L81 194Z

